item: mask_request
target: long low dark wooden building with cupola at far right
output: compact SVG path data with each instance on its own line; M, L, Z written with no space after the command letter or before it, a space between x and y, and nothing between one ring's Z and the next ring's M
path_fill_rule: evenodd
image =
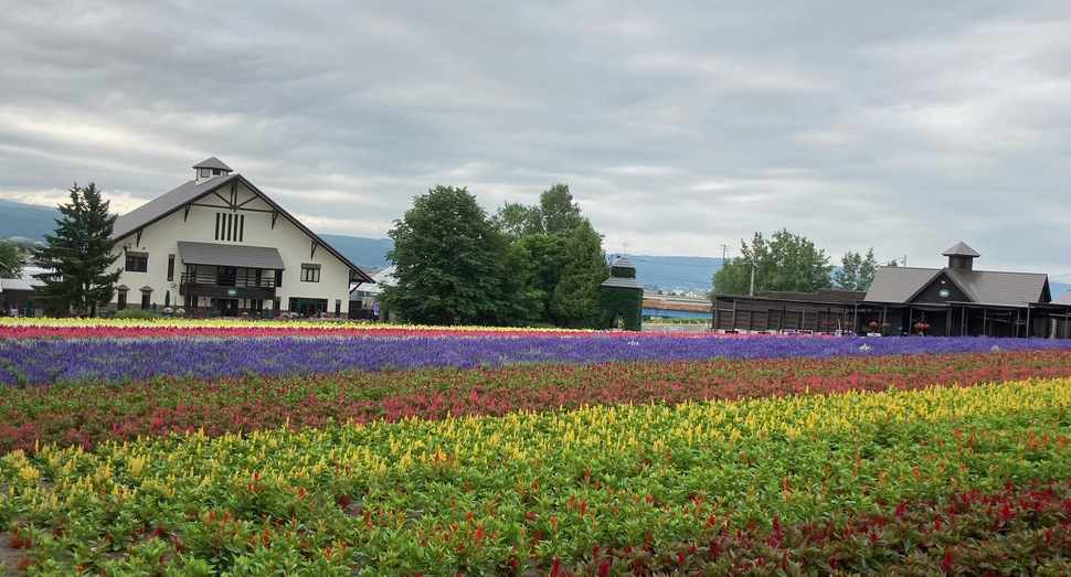
M714 295L712 329L725 332L1071 336L1071 296L1052 301L1039 273L975 270L964 243L943 268L879 267L867 292Z

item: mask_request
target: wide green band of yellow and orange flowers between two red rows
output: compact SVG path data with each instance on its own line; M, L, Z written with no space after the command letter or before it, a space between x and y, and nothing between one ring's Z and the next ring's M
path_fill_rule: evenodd
M152 527L202 556L220 539L256 554L255 537L314 560L347 543L379 563L679 544L709 536L710 520L787 523L1067 478L1069 402L1071 380L1050 380L39 447L0 457L0 525L35 527L56 547L41 556L99 566Z

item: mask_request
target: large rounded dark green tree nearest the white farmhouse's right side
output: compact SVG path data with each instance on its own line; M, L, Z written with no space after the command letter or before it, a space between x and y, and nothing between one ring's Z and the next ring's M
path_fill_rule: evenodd
M409 322L492 324L508 295L506 237L467 189L438 185L416 196L388 233L394 286L383 306Z

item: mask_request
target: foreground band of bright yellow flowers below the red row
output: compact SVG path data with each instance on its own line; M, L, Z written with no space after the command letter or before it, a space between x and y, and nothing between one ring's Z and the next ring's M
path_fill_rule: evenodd
M437 421L256 431L208 438L144 440L100 448L39 451L34 463L19 451L0 458L14 484L82 479L88 489L108 481L134 484L188 477L235 480L265 471L280 481L308 483L333 463L361 474L404 476L448 456L458 467L591 458L613 452L681 452L706 448L855 438L860 430L1047 410L1071 404L1071 381L1028 381L915 392L793 396L681 405L587 406L568 413L520 413ZM44 472L39 471L43 469Z

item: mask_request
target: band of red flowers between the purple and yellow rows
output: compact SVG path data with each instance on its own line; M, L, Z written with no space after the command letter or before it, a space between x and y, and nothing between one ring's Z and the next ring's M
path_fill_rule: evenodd
M848 391L915 389L1071 377L1071 351L424 368L220 380L158 377L127 386L9 388L0 452L35 442L102 441L204 429L319 427L329 420L501 415L591 404L679 403Z

